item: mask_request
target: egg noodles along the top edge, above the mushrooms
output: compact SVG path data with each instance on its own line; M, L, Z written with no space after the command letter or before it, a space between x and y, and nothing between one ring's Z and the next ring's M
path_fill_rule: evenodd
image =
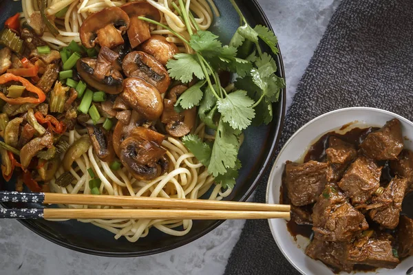
M23 6L23 21L30 21L32 17L39 16L39 5L36 0L21 0ZM140 0L142 1L142 0ZM48 0L46 14L53 16L60 10L67 8L65 16L54 19L54 24L59 30L60 35L54 37L48 30L45 30L41 39L47 42L50 47L58 49L67 46L72 40L81 42L79 31L83 21L92 13L103 10L107 7L115 7L132 1L111 1L111 0ZM147 0L160 11L161 21L169 28L189 38L184 20L179 16L173 5L179 5L177 0ZM187 0L185 1L187 13L193 12L195 21L201 30L207 30L213 21L213 14L219 16L213 0ZM193 26L193 25L192 25ZM193 30L195 27L193 26ZM191 49L184 45L180 39L174 36L169 30L164 30L157 26L151 34L161 34L167 36L169 42L176 43L182 52L190 52Z

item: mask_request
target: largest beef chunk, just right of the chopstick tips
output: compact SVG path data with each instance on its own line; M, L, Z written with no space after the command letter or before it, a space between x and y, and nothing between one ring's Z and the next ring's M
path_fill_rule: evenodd
M361 212L348 203L346 197L328 184L313 207L313 231L323 241L350 241L368 223Z

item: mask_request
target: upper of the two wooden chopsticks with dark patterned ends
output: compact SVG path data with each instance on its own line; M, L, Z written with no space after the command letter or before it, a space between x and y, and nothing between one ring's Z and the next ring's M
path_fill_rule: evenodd
M212 201L207 199L167 199L160 197L130 197L109 195L81 195L61 193L0 192L1 201L26 201L37 203L81 204L89 206L127 206L142 208L183 208L204 210L245 210L289 212L290 206L283 204L248 203L239 201ZM4 200L8 197L8 200ZM23 201L25 202L25 201Z

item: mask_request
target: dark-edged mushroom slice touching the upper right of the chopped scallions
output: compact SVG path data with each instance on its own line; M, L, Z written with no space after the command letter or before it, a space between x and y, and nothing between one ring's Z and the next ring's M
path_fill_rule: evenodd
M81 58L76 63L78 74L85 82L107 94L119 94L122 91L123 76L112 65L108 65L106 74L95 73L96 58Z

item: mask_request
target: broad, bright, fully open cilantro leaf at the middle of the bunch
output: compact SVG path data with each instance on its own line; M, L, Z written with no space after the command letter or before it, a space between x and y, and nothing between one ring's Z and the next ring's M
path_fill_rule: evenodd
M237 90L228 94L226 98L220 98L217 102L218 111L222 120L228 122L233 129L246 129L254 118L254 100L246 96L246 91Z

